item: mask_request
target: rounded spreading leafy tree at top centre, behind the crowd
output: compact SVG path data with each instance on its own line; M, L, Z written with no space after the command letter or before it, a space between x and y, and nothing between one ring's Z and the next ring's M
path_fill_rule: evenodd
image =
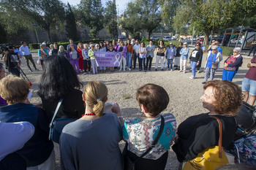
M122 28L135 34L143 30L148 33L148 40L154 28L161 22L161 13L159 11L157 0L135 0L129 2L125 10L124 20L121 20Z

